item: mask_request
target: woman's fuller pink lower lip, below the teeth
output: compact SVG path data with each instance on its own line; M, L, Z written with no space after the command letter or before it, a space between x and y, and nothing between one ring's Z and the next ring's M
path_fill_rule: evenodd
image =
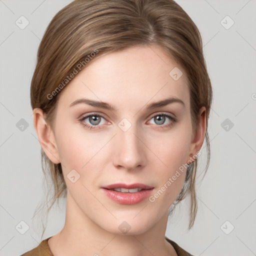
M120 204L135 204L146 199L152 192L151 189L143 189L134 193L130 192L118 192L115 190L110 190L106 188L102 188L104 193L113 201L118 202Z

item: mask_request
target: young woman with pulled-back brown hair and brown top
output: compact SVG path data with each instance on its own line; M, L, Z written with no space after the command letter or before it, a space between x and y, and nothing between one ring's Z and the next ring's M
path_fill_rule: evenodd
M209 152L211 84L185 11L172 0L72 1L45 31L30 92L66 218L23 255L191 255L165 237L188 193L192 227L204 138Z

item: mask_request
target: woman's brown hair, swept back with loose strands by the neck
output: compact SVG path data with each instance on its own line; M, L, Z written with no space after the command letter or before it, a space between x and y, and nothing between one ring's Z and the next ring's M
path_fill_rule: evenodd
M30 88L32 109L41 108L46 121L54 128L54 109L61 91L54 97L49 95L57 88L64 89L63 81L74 68L77 69L79 63L84 63L85 58L95 51L98 53L90 58L90 62L110 51L152 44L162 46L186 72L193 131L196 130L200 107L206 108L206 173L210 152L207 120L212 98L211 84L200 33L187 13L173 0L74 0L58 11L38 48ZM82 67L86 64L89 62ZM48 212L56 200L58 202L61 196L66 195L66 185L61 164L51 162L42 149L41 163L45 180L49 175L51 185L53 183L53 195L50 196L49 190L46 198ZM172 204L175 205L190 192L188 229L192 227L197 211L196 169L197 159L189 164L183 187Z

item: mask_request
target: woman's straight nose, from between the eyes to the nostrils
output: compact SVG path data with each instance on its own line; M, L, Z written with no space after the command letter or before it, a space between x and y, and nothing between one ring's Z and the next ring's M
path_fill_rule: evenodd
M127 170L140 169L146 163L146 146L143 144L143 136L135 127L123 131L117 127L115 135L113 164L116 168Z

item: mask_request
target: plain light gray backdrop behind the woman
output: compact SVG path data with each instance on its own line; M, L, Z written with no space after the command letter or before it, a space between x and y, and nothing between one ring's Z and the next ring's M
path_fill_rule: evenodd
M0 255L19 255L40 242L39 226L31 218L45 195L29 87L40 38L54 14L69 2L0 0ZM214 99L211 160L196 185L194 227L186 229L189 208L184 200L169 219L166 236L194 255L256 255L256 1L177 2L201 32ZM29 21L24 29L15 23L21 23L21 15ZM23 130L21 118L28 125ZM50 211L43 239L62 228L64 200L61 205ZM24 234L22 222L19 231L15 228L20 221L29 226Z

